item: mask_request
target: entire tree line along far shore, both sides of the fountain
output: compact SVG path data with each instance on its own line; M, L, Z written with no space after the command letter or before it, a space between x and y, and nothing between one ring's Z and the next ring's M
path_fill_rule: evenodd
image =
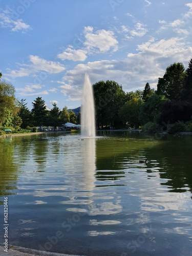
M48 110L45 101L37 97L30 111L26 99L17 100L11 83L1 80L0 73L0 126L27 129L32 126L56 127L66 122L80 123L73 111L65 106L60 110L56 103ZM142 126L143 131L163 130L192 132L192 58L185 69L183 63L173 63L158 78L157 90L145 84L144 90L125 93L116 81L99 81L93 84L96 125L98 129L113 126Z

